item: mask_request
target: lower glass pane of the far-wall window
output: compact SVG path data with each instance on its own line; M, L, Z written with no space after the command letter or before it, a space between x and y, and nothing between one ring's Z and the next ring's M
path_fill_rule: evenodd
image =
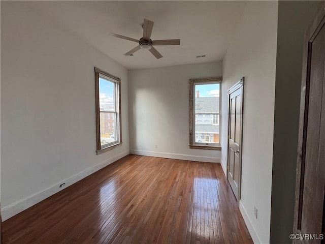
M195 115L195 142L220 143L219 114L205 114L204 119L199 115Z

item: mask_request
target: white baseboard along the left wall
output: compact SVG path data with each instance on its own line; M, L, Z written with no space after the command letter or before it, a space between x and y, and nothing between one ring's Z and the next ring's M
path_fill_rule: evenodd
M22 212L23 210L43 201L44 199L54 195L55 193L75 184L77 181L87 177L88 175L106 167L107 165L115 162L116 160L119 160L123 157L125 157L126 155L129 154L129 151L123 151L122 153L114 156L113 158L110 158L108 160L105 160L104 162L95 165L89 169L86 169L84 171L81 171L80 173L66 179L66 180L62 180L60 182L57 182L55 185L45 189L42 192L36 193L34 195L30 195L22 200L16 201L8 206L5 206L1 209L1 215L2 215L2 220L5 221L17 214L19 214L19 212ZM59 188L59 185L64 182L66 183L66 185L62 188Z

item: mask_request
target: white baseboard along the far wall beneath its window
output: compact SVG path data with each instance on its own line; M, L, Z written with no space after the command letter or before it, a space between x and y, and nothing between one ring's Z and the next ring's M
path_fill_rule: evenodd
M167 159L181 159L181 160L189 160L189 161L208 162L208 163L220 163L220 159L218 158L196 156L196 155L158 153L156 151L145 151L145 150L135 150L135 149L130 150L130 154L151 156L151 157L158 157L158 158L167 158Z

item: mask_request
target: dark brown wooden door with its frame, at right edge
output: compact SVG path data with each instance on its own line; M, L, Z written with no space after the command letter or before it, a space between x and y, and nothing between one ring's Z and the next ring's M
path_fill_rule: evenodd
M294 243L321 243L325 189L325 4L305 34Z

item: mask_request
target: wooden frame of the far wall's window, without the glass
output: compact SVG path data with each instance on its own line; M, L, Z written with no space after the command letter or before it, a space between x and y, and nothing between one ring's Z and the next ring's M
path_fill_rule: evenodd
M219 143L195 142L195 85L197 84L219 84ZM221 150L221 96L222 96L222 77L189 79L189 148L191 149L210 149ZM213 114L213 113L211 113ZM213 118L212 118L213 119Z

